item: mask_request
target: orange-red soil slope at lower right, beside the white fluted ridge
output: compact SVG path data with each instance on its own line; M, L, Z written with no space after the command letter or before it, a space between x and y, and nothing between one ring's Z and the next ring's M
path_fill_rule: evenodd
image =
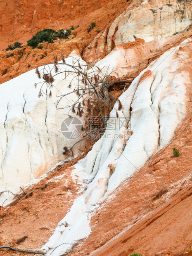
M190 106L191 100L190 95ZM178 157L173 157L173 147L179 150ZM137 252L142 256L191 256L191 170L190 113L173 141L100 205L91 219L92 233L69 255L127 256ZM160 178L168 192L156 198L164 188Z

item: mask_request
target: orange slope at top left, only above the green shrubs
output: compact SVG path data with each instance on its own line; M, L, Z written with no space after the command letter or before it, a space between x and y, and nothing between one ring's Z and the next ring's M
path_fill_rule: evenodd
M106 17L110 22L127 6L126 1L109 0L1 1L0 49L17 40L24 43L43 28L58 30L79 25L78 31L82 32L86 30L86 22L91 21L103 26L107 24Z

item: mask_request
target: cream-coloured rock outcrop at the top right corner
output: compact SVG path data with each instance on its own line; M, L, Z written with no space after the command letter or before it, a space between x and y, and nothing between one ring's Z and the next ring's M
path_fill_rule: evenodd
M134 36L145 42L172 36L192 24L191 19L191 1L132 1L126 12L117 17L109 28L108 53L114 45L135 41Z

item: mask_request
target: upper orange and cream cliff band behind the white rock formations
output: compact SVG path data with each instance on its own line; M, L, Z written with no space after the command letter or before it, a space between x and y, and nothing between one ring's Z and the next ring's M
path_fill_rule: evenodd
M8 9L10 5L8 2L2 2L1 5L7 5L6 8L2 7L2 24L4 25L1 26L1 33L5 38L1 41L3 47L20 38L21 42L25 42L43 28L57 30L69 28L71 25L75 27L70 40L57 40L48 45L44 43L43 50L26 48L24 44L22 49L13 51L13 57L6 57L9 51L0 52L1 83L33 69L38 64L51 62L52 53L63 52L67 57L72 50L77 50L85 62L95 65L119 44L134 42L135 38L141 38L145 42L162 38L162 46L166 43L163 38L172 37L173 34L182 31L190 31L192 23L191 1L174 0L167 3L166 1L118 0L86 4L62 1L45 3L43 0L34 1L31 4L16 2L15 6L23 16L18 17L19 11L17 15L9 14L9 17L13 17L10 19L14 21L11 20L8 24L8 11L14 13L15 9ZM30 16L32 12L35 12L33 18ZM96 27L88 33L87 28L92 21L96 21ZM7 24L6 29L5 24ZM10 29L9 24L11 24ZM10 33L12 40L7 36L7 31L12 31ZM142 49L145 52L144 45ZM156 52L155 46L150 50Z

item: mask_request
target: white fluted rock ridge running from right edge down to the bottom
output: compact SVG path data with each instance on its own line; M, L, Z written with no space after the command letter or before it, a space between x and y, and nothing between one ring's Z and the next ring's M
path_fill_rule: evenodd
M123 104L123 109L118 111L119 119L116 118L118 104L115 104L106 132L74 166L76 174L81 176L84 171L88 179L92 176L93 180L43 247L52 248L47 255L62 255L76 240L88 237L89 212L173 138L185 117L189 100L187 93L192 81L187 66L191 49L192 40L187 39L168 50L142 71L119 97ZM102 63L104 66L105 59L100 66ZM121 59L119 62L116 59L113 65L121 66ZM63 228L66 222L70 226Z

